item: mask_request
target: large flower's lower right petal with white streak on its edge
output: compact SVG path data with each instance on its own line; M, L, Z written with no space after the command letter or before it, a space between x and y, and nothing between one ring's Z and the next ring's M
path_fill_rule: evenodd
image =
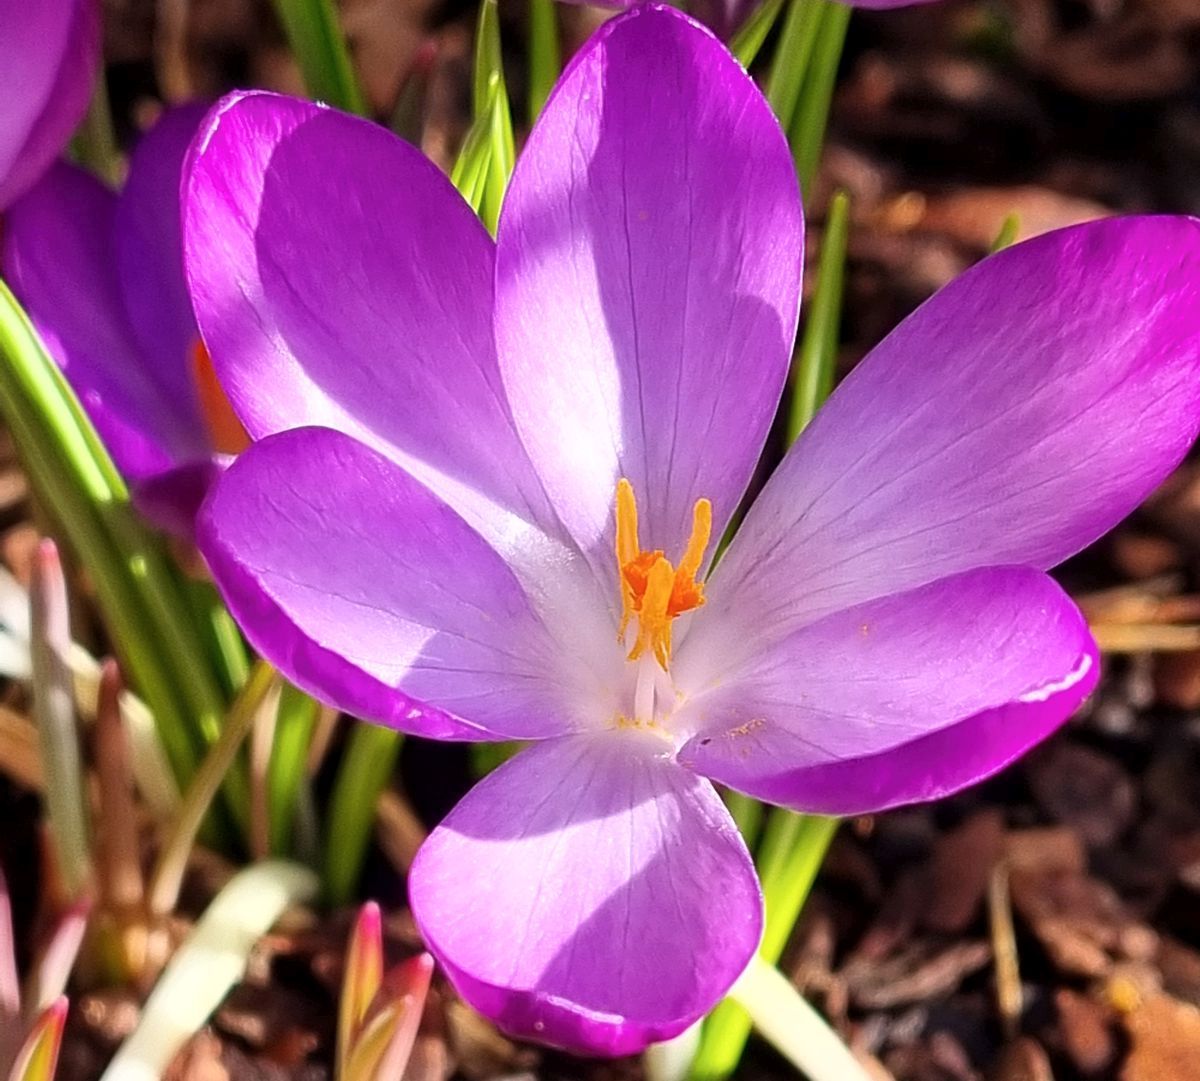
M698 689L679 758L805 811L936 799L1052 732L1098 671L1087 624L1054 581L967 571L829 615L737 680Z

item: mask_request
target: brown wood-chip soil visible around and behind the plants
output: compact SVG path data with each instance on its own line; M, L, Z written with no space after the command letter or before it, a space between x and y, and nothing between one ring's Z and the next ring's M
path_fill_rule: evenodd
M500 6L520 88L521 6ZM265 0L106 0L106 14L124 139L163 95L300 90ZM449 161L464 127L472 10L346 0L343 14L378 115ZM601 17L562 14L568 44ZM808 199L810 258L835 187L853 200L844 368L984 254L1012 212L1022 236L1112 212L1200 214L1200 0L944 0L857 13ZM2 553L23 573L30 506L6 461ZM1082 713L977 788L841 829L784 967L880 1079L1200 1077L1198 572L1200 463L1188 462L1060 570L1114 647ZM25 708L16 691L2 704ZM30 776L8 773L0 861L28 930L38 907L40 879L28 870L40 863L38 804ZM412 827L410 805L432 824L469 779L460 750L406 750L396 791L408 804L392 805L392 843L367 876L368 891L391 906L396 956L418 948L395 870L406 851L396 822ZM202 870L197 897L208 891ZM172 1076L330 1076L348 920L312 915L269 937ZM134 1016L127 991L77 993L60 1076L96 1076ZM436 983L409 1076L451 1074L635 1081L641 1070L515 1045ZM738 1076L793 1073L752 1041Z

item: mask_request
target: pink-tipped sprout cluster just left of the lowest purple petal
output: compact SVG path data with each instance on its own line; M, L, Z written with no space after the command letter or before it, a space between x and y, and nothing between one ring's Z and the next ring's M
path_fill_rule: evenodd
M379 906L359 911L337 1017L340 1081L400 1081L413 1053L433 959L420 954L384 974Z

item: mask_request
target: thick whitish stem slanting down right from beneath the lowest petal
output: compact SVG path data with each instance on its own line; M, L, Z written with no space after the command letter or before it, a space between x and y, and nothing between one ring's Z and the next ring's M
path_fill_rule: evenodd
M757 954L730 989L758 1032L811 1081L872 1081L829 1023Z

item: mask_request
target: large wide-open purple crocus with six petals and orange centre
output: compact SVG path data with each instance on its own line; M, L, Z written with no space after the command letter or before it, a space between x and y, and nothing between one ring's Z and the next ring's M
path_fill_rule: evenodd
M197 137L197 318L257 440L198 542L325 702L533 745L412 869L461 993L599 1053L680 1032L755 950L710 780L857 813L984 777L1097 679L1044 570L1180 461L1200 226L995 256L841 385L710 575L784 388L803 222L754 83L668 7L564 73L491 240L415 149L270 94Z

